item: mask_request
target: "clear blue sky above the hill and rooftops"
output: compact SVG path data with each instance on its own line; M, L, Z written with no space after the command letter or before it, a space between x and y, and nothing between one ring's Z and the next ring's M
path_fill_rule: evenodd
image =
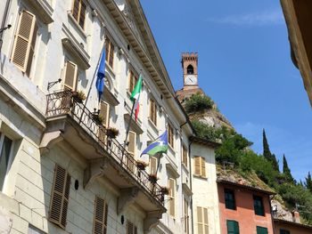
M199 85L262 153L287 158L296 180L312 173L312 109L278 0L141 0L175 89L182 52L199 53Z

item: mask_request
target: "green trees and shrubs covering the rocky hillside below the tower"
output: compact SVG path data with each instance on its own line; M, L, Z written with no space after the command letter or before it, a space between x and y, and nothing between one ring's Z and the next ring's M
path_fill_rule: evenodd
M207 102L207 103L206 103ZM299 205L301 222L312 224L312 180L308 173L305 182L296 182L291 169L283 156L283 171L279 170L275 154L272 154L263 131L263 154L256 154L250 146L252 142L226 126L209 125L202 121L202 112L215 109L213 101L200 93L194 94L184 103L185 111L190 115L193 127L198 136L209 141L220 141L222 144L216 150L216 160L219 165L234 165L234 170L244 178L257 175L261 182L277 193L276 198L282 198L283 205L290 211ZM218 111L218 109L216 109ZM201 113L197 115L196 113ZM196 117L197 116L197 117ZM300 154L300 152L298 152ZM259 183L253 181L253 183Z

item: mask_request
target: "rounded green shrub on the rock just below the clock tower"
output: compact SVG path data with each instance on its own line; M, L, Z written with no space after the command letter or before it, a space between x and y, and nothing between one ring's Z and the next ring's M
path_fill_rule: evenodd
M204 109L211 109L214 102L206 95L195 93L192 97L185 101L186 113L193 113Z

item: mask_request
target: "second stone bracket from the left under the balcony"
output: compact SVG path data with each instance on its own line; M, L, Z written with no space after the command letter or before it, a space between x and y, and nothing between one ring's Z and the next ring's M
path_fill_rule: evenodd
M108 159L104 157L89 160L84 173L84 189L86 189L88 184L94 182L96 178L103 176L107 165Z

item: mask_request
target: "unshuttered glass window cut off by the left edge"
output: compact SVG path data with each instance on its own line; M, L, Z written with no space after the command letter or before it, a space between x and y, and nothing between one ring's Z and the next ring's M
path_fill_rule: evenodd
M10 153L12 149L12 140L0 133L0 190L4 187L4 179L7 173Z

